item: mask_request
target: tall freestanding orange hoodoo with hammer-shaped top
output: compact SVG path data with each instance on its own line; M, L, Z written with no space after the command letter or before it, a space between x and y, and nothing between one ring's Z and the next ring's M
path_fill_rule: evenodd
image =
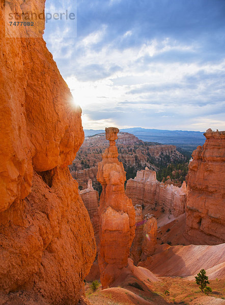
M98 164L97 179L102 185L100 196L100 249L99 268L102 288L115 281L118 273L128 264L130 246L135 234L135 210L124 191L126 175L118 161L115 145L117 128L105 129L109 147Z

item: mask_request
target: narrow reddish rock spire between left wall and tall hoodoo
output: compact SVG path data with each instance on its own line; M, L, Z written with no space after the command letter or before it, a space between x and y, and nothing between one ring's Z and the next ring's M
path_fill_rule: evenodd
M80 191L80 197L85 203L85 206L89 212L89 216L94 228L96 244L99 244L99 196L98 192L92 187L92 180L88 181L88 188Z

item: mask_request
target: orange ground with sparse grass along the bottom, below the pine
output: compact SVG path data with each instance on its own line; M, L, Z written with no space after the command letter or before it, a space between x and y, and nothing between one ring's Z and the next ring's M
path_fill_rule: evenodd
M190 304L190 305L222 305L225 304L225 280L212 280L210 296L201 292L194 281L182 278L159 278L158 282L146 285L135 285L136 282L124 283L115 288L96 291L91 288L91 283L86 283L86 298L93 305L166 305L166 304ZM143 290L140 290L142 288ZM166 294L166 291L168 293ZM89 303L87 303L89 305Z

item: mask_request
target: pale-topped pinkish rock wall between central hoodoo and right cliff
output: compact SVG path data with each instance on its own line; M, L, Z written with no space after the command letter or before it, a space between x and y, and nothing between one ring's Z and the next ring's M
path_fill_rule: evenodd
M147 168L138 171L134 179L127 181L126 194L134 205L159 205L167 214L175 217L185 212L185 181L181 188L164 184L156 179L155 171Z

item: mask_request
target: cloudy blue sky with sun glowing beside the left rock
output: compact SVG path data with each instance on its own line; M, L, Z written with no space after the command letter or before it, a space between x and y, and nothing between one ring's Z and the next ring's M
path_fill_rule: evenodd
M225 130L225 0L77 0L75 27L44 38L85 129Z

